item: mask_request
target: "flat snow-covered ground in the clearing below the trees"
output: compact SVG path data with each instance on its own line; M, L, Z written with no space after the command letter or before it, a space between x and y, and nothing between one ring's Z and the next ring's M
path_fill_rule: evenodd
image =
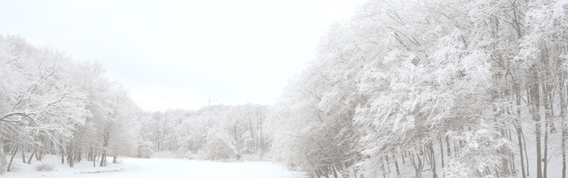
M36 172L35 165L53 164L51 172ZM208 162L178 159L125 158L121 164L92 167L92 162L80 162L74 168L61 165L57 159L18 163L19 172L0 177L307 177L270 162Z

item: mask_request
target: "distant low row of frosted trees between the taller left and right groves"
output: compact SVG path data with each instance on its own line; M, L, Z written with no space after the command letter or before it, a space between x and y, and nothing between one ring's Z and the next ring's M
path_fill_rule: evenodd
M141 155L151 150L202 160L262 159L271 146L263 129L267 112L268 106L247 104L148 113L140 143L151 149Z

